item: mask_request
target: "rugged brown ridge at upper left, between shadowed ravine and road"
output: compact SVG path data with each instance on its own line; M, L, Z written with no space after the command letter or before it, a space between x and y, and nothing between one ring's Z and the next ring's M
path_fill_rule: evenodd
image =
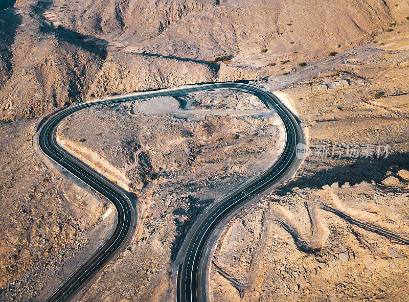
M83 36L54 28L45 5L0 11L0 120L37 117L113 92L215 80L209 64L107 53Z

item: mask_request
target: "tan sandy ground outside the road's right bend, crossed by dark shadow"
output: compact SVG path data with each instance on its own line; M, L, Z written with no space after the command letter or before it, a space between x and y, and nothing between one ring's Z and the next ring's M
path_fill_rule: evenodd
M284 188L226 226L212 300L406 300L406 29L261 83L288 85L279 95L308 127L311 154ZM352 146L361 153L348 155Z

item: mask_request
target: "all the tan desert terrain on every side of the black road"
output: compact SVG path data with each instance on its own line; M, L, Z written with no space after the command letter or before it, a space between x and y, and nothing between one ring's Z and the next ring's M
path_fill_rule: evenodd
M407 300L408 12L391 0L17 0L0 10L0 300L46 300L116 223L109 201L38 155L44 114L242 80L298 115L311 154L225 225L210 299ZM274 164L285 136L274 110L223 89L89 107L57 141L132 192L141 213L81 300L169 301L192 222Z

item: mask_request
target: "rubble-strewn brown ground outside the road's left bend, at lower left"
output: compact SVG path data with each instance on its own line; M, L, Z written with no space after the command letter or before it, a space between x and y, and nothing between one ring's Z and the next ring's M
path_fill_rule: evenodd
M0 126L0 300L45 300L115 226L106 200L56 177L35 156L35 120ZM16 142L18 142L16 144ZM16 158L15 154L18 154Z

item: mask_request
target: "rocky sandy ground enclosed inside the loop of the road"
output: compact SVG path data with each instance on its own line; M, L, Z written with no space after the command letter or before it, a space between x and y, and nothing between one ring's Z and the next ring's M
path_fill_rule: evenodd
M166 272L190 223L274 163L284 146L281 128L260 100L229 89L96 106L63 122L59 142L137 194L142 217L126 257L108 266L84 299L112 298L118 286L134 299L168 299Z

